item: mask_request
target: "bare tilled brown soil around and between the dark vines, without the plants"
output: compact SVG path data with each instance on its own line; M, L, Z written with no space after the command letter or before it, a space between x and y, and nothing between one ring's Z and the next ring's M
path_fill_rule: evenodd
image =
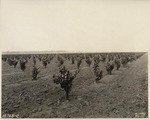
M104 63L100 63L104 69ZM2 117L17 114L20 118L131 118L148 117L148 55L113 70L99 83L95 83L93 68L85 61L73 81L70 101L65 92L53 83L52 75L58 73L54 58L45 69L41 62L37 81L32 81L32 60L25 72L2 62ZM70 61L64 63L76 69Z

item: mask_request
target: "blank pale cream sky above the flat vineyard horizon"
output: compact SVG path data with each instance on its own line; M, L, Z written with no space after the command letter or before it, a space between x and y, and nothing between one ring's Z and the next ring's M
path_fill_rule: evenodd
M1 0L2 51L148 51L150 1Z

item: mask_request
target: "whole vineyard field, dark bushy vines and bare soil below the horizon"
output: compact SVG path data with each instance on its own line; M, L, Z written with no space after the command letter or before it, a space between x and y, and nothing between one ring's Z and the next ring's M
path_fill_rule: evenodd
M1 113L3 118L147 118L148 54L3 54Z

